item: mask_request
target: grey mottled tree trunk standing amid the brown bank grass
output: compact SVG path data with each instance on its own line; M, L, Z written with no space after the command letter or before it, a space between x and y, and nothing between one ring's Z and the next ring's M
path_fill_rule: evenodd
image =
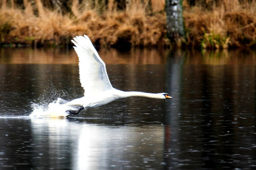
M172 42L184 36L182 1L165 0L167 37Z

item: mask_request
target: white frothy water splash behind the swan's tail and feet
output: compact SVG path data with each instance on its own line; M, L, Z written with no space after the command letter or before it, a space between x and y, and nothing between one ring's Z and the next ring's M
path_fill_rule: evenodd
M58 98L49 105L32 103L32 113L29 115L31 118L42 117L66 117L69 113L67 110L76 110L75 107L65 105L67 101Z

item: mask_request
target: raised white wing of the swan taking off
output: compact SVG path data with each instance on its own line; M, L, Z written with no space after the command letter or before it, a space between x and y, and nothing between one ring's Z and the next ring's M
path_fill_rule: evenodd
M79 58L79 75L84 95L112 89L105 63L99 57L89 37L76 36L71 41L76 45L74 48Z

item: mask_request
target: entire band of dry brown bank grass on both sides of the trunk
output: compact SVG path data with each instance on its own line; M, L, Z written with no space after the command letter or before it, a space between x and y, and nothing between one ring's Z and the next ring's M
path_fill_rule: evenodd
M87 34L94 44L104 47L172 45L166 38L165 0L131 0L125 10L118 10L114 0L109 0L108 7L93 5L100 1L70 0L69 12L49 9L40 0L35 4L25 0L24 8L14 2L0 2L2 44L67 46L72 37ZM198 3L191 7L183 0L186 36L177 43L207 49L256 47L255 0L206 3L209 9Z

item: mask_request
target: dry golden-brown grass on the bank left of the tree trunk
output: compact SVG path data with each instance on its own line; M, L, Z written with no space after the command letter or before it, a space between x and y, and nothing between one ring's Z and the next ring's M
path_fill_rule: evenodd
M25 10L17 7L0 9L0 35L5 43L65 45L76 35L87 34L93 42L104 46L167 44L165 14L158 12L164 3L154 2L154 15L146 13L146 3L134 0L126 11L117 11L113 1L108 10L99 14L98 6L91 8L90 1L73 0L73 15L49 10L36 1L38 15L33 14L32 5L26 2ZM164 2L160 1L160 2Z

